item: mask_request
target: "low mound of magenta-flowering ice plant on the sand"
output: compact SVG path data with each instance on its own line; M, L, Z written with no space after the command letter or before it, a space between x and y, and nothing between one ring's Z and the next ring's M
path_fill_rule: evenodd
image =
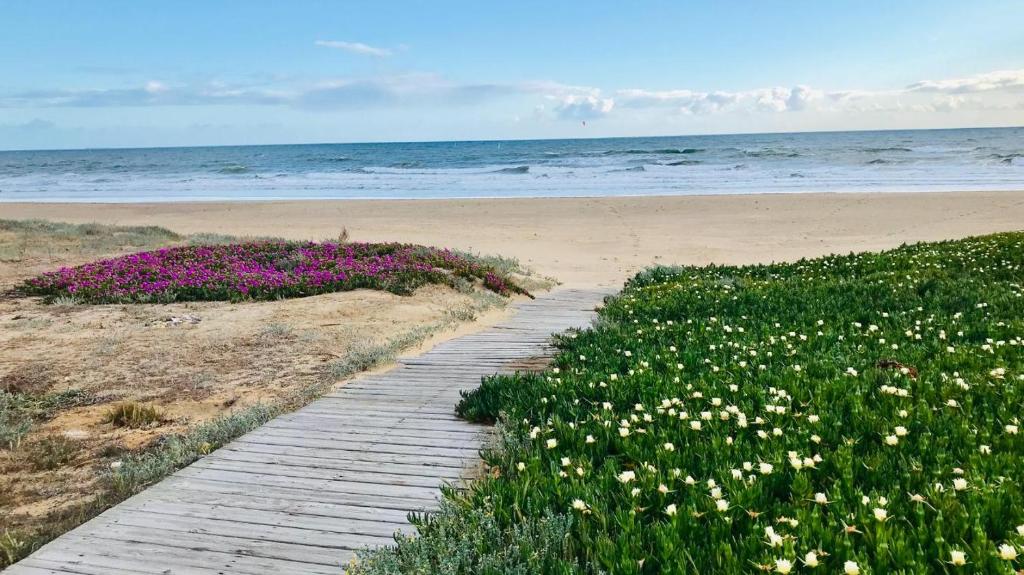
M371 288L408 294L426 283L480 281L526 294L492 266L409 244L250 241L142 252L29 279L32 295L87 303L269 300Z

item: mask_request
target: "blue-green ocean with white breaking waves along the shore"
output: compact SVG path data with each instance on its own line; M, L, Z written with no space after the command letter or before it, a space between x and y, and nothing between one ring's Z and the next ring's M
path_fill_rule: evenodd
M1024 189L1024 128L0 151L0 202Z

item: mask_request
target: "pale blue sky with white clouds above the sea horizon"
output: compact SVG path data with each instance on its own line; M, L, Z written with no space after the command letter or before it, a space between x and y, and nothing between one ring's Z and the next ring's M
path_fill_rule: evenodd
M0 149L1021 126L1021 0L0 0Z

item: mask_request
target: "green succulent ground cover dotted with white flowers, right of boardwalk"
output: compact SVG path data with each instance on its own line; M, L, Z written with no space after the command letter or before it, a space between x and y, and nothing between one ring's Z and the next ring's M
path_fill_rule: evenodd
M643 272L466 394L490 473L351 571L1014 573L1022 284L1022 233Z

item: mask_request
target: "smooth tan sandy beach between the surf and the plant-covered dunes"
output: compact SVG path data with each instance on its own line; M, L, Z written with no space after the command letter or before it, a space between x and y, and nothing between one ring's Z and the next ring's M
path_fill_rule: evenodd
M1024 191L527 200L0 204L3 218L180 233L413 241L518 258L567 286L652 264L744 264L1024 227Z

